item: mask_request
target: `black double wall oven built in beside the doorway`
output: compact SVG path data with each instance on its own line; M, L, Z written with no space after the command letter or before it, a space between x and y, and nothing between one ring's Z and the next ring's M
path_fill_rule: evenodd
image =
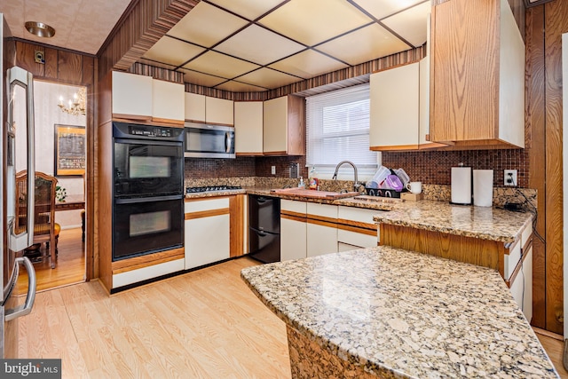
M113 122L113 260L184 243L184 129Z

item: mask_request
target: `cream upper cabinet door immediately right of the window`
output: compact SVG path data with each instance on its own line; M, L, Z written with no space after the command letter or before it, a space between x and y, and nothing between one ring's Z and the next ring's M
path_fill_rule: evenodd
M419 142L419 63L390 68L370 78L372 150L415 150Z

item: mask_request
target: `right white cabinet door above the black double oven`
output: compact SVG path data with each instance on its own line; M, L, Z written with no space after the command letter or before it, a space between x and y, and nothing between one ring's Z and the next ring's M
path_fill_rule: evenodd
M152 85L152 120L157 122L184 122L184 84L154 79Z

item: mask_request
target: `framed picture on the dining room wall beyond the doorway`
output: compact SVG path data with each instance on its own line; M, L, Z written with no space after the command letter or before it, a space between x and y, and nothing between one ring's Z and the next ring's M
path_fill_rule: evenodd
M55 124L56 177L85 173L86 142L84 126Z

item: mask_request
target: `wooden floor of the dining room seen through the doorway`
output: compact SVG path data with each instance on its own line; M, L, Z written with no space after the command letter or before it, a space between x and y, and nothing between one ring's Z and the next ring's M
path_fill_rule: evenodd
M49 259L34 264L36 269L37 290L57 288L85 280L84 243L81 241L81 228L65 229L59 232L57 266L52 269ZM47 250L49 252L49 250ZM45 244L41 252L45 253ZM20 270L15 293L25 294L28 290L28 273Z

